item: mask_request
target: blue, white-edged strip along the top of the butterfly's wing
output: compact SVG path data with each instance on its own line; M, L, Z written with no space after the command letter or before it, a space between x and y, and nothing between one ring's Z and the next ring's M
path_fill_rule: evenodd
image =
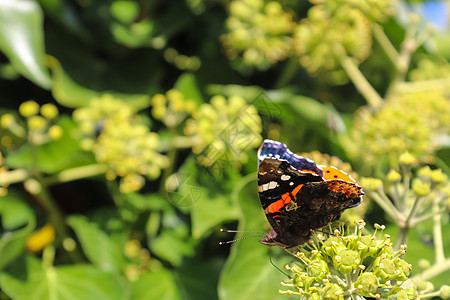
M258 166L266 157L285 160L297 170L313 171L323 177L323 170L315 162L292 153L291 150L287 148L286 144L272 140L264 140L258 150Z

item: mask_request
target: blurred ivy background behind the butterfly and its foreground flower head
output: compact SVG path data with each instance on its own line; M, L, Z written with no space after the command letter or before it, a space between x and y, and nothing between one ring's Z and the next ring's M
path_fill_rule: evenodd
M252 235L220 228L270 229L256 182L266 138L368 182L374 193L343 220L386 224L408 242L412 274L434 284L425 292L439 291L450 275L448 11L0 1L0 299L289 297L269 261L291 261L282 249L218 244ZM427 182L426 166L442 177ZM383 206L398 204L391 170L411 196L398 216Z

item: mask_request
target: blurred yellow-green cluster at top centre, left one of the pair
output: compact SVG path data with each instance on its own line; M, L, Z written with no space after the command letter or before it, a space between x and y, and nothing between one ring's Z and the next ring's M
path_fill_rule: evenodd
M234 0L229 13L222 42L232 60L263 70L291 55L295 22L279 1Z

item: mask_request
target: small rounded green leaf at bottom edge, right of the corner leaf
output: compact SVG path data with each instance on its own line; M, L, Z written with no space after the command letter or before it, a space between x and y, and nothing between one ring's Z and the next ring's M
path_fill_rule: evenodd
M133 284L133 300L181 299L172 273L166 269L151 271Z

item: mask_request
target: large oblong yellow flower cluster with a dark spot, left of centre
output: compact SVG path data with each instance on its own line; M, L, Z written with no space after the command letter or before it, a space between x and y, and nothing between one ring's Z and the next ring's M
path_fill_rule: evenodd
M145 177L157 178L169 161L158 150L159 135L143 124L136 111L109 95L74 112L84 134L82 144L108 167L109 180L121 177L123 193L139 190Z

